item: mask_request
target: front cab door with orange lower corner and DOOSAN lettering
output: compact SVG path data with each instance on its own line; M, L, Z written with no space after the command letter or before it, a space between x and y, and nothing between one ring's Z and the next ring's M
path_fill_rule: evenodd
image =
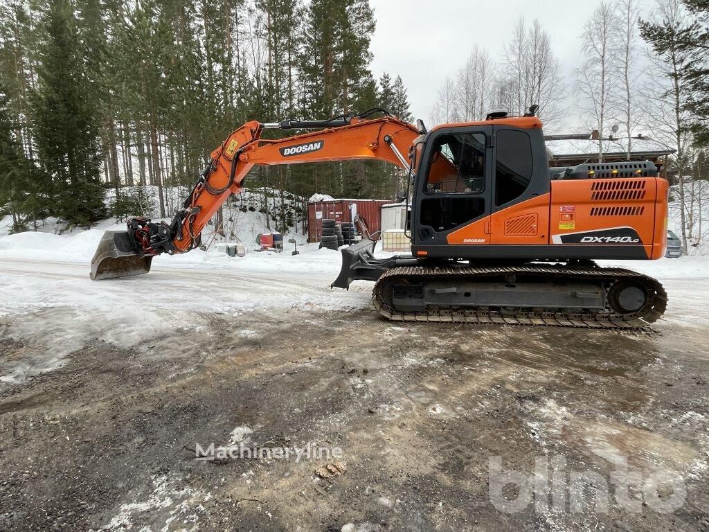
M491 126L430 133L414 197L414 245L489 243L491 135Z

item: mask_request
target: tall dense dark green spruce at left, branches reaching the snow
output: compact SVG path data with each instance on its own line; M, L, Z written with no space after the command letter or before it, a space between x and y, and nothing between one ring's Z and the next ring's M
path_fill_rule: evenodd
M89 226L104 215L104 190L99 180L99 118L90 97L95 93L86 76L74 6L68 0L50 2L43 26L33 98L33 130L48 175L43 188L50 194L53 214Z

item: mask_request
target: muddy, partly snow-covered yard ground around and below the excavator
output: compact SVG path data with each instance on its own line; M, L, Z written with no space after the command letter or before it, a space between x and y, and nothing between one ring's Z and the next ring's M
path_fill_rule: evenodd
M707 279L618 333L390 323L329 273L0 275L0 530L709 530Z

